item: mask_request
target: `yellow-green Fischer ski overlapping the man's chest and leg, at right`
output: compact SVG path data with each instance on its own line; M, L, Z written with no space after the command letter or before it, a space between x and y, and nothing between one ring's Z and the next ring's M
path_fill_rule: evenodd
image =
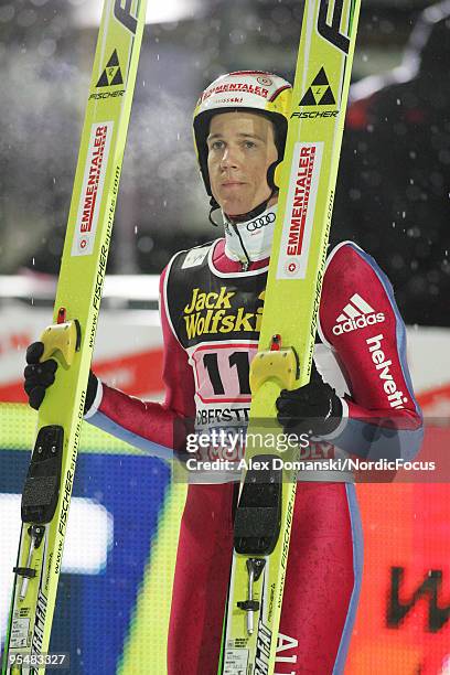
M270 443L260 439L281 432L275 408L280 389L310 377L360 3L304 4L261 331L250 366L247 469L235 516L222 675L272 675L276 667L297 486L289 461L296 452L268 454Z

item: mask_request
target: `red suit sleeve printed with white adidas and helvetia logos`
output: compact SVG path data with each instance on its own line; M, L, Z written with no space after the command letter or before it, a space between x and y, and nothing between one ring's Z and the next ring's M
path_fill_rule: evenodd
M350 392L333 442L371 459L415 456L422 417L407 365L405 325L386 275L351 242L329 257L319 333Z

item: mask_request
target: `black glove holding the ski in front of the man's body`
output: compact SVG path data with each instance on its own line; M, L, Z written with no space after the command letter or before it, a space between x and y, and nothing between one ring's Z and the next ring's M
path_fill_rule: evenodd
M314 362L311 379L298 389L282 389L276 401L277 419L286 433L326 436L342 420L342 403L334 389L323 382Z

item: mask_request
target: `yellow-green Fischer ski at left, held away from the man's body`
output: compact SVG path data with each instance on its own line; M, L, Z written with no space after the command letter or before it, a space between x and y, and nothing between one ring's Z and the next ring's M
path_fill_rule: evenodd
M41 338L42 361L53 356L60 366L39 411L22 494L3 675L42 674L55 663L47 652L146 3L105 0L103 10L54 323Z

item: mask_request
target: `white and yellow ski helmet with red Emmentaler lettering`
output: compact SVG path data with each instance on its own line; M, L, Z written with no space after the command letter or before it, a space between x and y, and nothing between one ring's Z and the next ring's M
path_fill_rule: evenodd
M251 110L267 116L275 125L278 162L280 162L285 153L291 101L292 86L289 82L262 71L237 71L221 75L206 87L194 110L194 144L200 171L210 196L212 192L207 172L206 138L212 117L231 110ZM269 185L272 188L274 171L275 165L268 176Z

